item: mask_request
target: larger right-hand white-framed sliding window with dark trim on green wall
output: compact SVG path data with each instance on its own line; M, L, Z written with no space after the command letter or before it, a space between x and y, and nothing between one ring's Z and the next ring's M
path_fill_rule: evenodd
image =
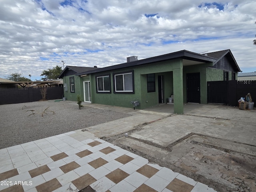
M133 71L113 74L114 93L134 93Z

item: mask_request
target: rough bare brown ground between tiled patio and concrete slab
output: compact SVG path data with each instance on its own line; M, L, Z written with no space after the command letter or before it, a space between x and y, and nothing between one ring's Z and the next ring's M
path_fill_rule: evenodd
M256 191L256 146L198 134L190 134L167 148L124 134L103 139L218 192Z

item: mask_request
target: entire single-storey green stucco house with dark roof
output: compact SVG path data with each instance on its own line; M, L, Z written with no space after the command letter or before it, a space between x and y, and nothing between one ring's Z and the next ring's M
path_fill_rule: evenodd
M80 94L84 101L130 108L131 101L137 100L140 106L136 108L143 109L166 103L174 95L174 112L182 114L183 103L207 103L208 81L236 80L238 72L230 50L207 54L182 50L142 60L132 56L123 64L73 71L72 75L65 68L60 78L68 76L76 89L72 95L64 88L68 100Z

